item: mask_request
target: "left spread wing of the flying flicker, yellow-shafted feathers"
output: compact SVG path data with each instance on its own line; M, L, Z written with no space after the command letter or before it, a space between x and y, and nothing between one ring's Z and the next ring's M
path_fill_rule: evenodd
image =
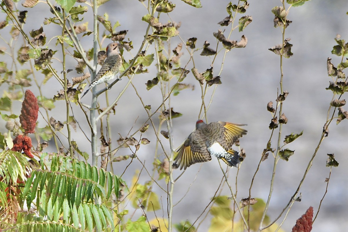
M193 144L192 146L190 137L186 139L184 144L179 147L179 149L177 149L177 152L178 154L174 159L174 164L176 164L180 170L183 168L186 169L194 163L206 162L212 159L208 151L207 154L202 154L201 152L197 151L195 149L195 145Z

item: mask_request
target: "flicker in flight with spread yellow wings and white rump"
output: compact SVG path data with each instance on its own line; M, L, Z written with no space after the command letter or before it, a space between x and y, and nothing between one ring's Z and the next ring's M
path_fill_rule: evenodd
M196 122L196 130L177 149L173 167L184 168L194 163L206 162L212 159L211 155L222 159L228 166L237 167L239 154L231 149L232 145L247 133L246 130L229 122L211 122L208 125L202 120Z

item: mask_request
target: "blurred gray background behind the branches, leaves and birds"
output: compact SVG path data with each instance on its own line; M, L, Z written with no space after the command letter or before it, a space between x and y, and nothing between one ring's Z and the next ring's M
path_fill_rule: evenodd
M236 2L234 3L236 4ZM221 29L217 23L228 15L226 6L229 1L202 1L203 7L200 9L190 7L179 0L174 0L173 3L176 4L176 8L169 15L173 21L181 22L179 31L182 40L185 42L188 38L196 37L198 38L196 47L201 47L206 40L211 43L212 48L216 47L216 39L213 37L213 32ZM247 157L240 166L238 174L237 199L248 197L252 176L271 133L271 130L268 129L271 114L266 110L266 105L269 101L273 101L275 107L280 68L279 56L269 51L268 48L282 43L280 29L273 26L274 15L271 13L271 9L275 6L281 6L281 2L269 0L250 1L250 7L244 15L252 16L253 22L242 33L239 33L237 29L232 32L231 36L232 40L239 41L241 35L244 34L248 39L247 46L243 49L232 49L227 53L223 71L220 75L222 85L217 87L213 102L207 112L209 122L229 121L248 124L246 126L248 134L240 140L241 147L245 149ZM18 4L18 9L23 10L23 7ZM42 22L45 17L52 17L45 3L39 3L33 9L26 10L29 11L27 23L24 25L24 29L27 32L32 29L38 29L40 25L43 25ZM268 211L271 220L280 213L293 195L319 142L329 103L332 99L332 92L325 90L331 80L327 76L326 60L327 57L333 58L332 63L335 66L340 61L340 57L332 55L331 50L332 46L336 45L334 41L336 34L340 34L342 39L348 40L347 11L348 2L346 0L309 1L301 7L290 9L288 19L293 22L286 29L285 37L291 38L290 43L293 45L292 52L294 55L290 59L284 59L283 62L284 90L287 90L289 95L283 104L283 112L288 118L288 123L283 126L282 140L284 136L290 133L300 133L302 130L303 135L286 146L286 148L295 150L289 161L279 160L278 162L274 191ZM145 7L137 0L111 0L98 9L98 15L103 15L104 13L109 14L111 23L120 22L121 26L116 29L117 31L128 30L126 38L133 41L134 49L131 53L134 56L143 40L147 26L147 23L141 21L142 16L147 14ZM4 16L3 14L1 18ZM89 30L93 30L92 11L87 12L84 17L89 20ZM240 18L241 15L237 17ZM167 20L169 19L166 15L161 15L160 22L166 23L168 22ZM100 28L102 32L102 26ZM223 27L223 29L227 30L225 33L227 36L230 27ZM44 32L50 38L60 34L61 29L57 25L48 25L44 26ZM2 37L6 38L6 36L2 34ZM81 39L81 43L86 50L93 46L92 39L92 35ZM104 48L109 42L109 40L103 42ZM180 42L180 39L177 37L171 39L171 49L174 49ZM20 39L17 41L17 46L20 46L22 43ZM60 47L54 48L54 44L55 40L52 40L47 46L53 49L60 49ZM149 51L152 50L149 49ZM184 55L181 58L181 67L189 59L189 53L185 48L182 49L182 52ZM203 72L210 67L211 57L199 56L199 53L200 51L194 55L195 64L198 71ZM214 75L217 75L220 70L219 64L221 64L222 55L223 52L218 55L215 61ZM128 60L131 56L125 53L124 58ZM5 56L1 56L1 59L5 59ZM6 62L10 63L10 61ZM58 62L53 62L58 69ZM69 65L68 69L74 69L76 63L71 62ZM98 66L99 68L100 66ZM191 68L192 63L189 64L187 69L190 70ZM136 75L133 83L144 103L151 105L154 110L162 102L162 97L158 87L154 87L149 91L145 89L144 83L156 76L156 69L153 65L149 68L149 71L148 74ZM69 73L70 78L76 76L79 75L73 72ZM37 78L42 80L44 77L41 74L37 74ZM118 82L109 91L111 100L116 98L124 88L127 83L126 79L126 77L122 78L122 81ZM195 127L201 104L201 90L192 73L188 74L188 77L183 82L194 84L195 89L193 91L189 89L183 90L179 95L171 98L170 106L173 107L175 112L183 114L181 118L173 119L173 138L176 147L184 141ZM60 90L56 83L56 80L53 78L48 81L43 89L46 97L52 98L56 91ZM208 93L212 93L213 88L214 86L208 90ZM3 90L4 86L1 86L1 89ZM37 93L35 86L30 89ZM89 93L83 99L83 102L88 104L90 96ZM208 97L205 101L208 103L210 95L207 94L206 96ZM100 99L102 98L100 97ZM345 96L343 96L344 98ZM20 102L14 104L15 107L18 106L16 108L18 112L15 113L19 114L20 104ZM101 100L101 104L101 107L105 106L103 100ZM79 119L80 125L88 134L89 128L84 115L78 107L73 107L75 117ZM136 123L131 133L147 120L147 113L131 86L120 98L115 109L116 114L111 115L113 148L117 146L118 133L125 137L135 121ZM52 110L51 115L56 120L65 121L65 113L62 113L62 110L65 112L64 102L56 102L56 109ZM153 117L155 123L158 122L157 116L158 114ZM45 125L45 121L40 116L39 127L44 127ZM164 125L162 129L166 130L166 126ZM313 206L314 213L316 213L319 201L325 192L325 178L329 177L330 168L325 167L327 153L335 154L339 167L332 169L328 192L312 231L345 231L345 228L348 226L346 219L348 215L348 145L346 142L348 121L344 120L338 126L335 125L334 121L329 129L329 137L325 138L321 144L313 161L313 166L300 190L302 201L294 203L282 227L285 231L291 231L296 219L304 214L309 206ZM5 128L1 129L1 132L4 131ZM136 135L137 139L139 139L139 135ZM78 130L76 134L73 133L73 136L80 144L80 149L90 153L89 143L81 131ZM142 145L137 154L139 159L145 162L148 170L151 170L156 141L153 129L150 128L143 136L148 138L151 143L146 146ZM162 136L160 138L165 144L167 151L169 151L168 141ZM272 140L272 147L276 147L276 138L274 136ZM82 146L82 144L86 145ZM54 147L52 146L52 150L48 149L48 151L54 151ZM120 149L117 153L117 155L126 154L130 154L130 151L125 148ZM160 159L164 159L164 154L160 150L159 155ZM116 163L114 165L115 173L120 175L128 162L129 160ZM261 163L252 189L253 198L267 200L273 162L274 160L270 154L269 158ZM141 169L141 164L139 161L134 160L122 178L127 183L130 183L136 169ZM199 169L200 171L196 177ZM234 186L236 172L236 168L229 171L229 181L232 186ZM179 174L179 170L174 171L174 176ZM216 159L204 163L203 166L200 164L193 165L185 171L175 184L174 202L180 200L190 184L195 181L186 197L174 208L174 223L186 219L191 223L195 221L209 203L219 186L221 178L222 173ZM149 176L144 172L139 182L144 184L147 180L149 180ZM161 196L166 208L166 195L156 186L154 186L153 190ZM222 194L229 195L226 185ZM157 215L162 215L162 213ZM164 215L166 215L166 212ZM198 222L202 219L203 217ZM199 231L207 231L209 225L210 217L208 216L199 227Z

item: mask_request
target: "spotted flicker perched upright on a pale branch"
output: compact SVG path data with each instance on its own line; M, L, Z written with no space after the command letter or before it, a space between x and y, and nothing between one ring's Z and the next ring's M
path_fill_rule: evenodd
M103 66L97 73L92 83L89 84L87 91L84 93L84 95L82 95L82 97L84 97L88 93L89 89L93 88L94 86L113 79L120 70L122 62L122 57L118 51L118 44L110 43L106 47L106 59Z

